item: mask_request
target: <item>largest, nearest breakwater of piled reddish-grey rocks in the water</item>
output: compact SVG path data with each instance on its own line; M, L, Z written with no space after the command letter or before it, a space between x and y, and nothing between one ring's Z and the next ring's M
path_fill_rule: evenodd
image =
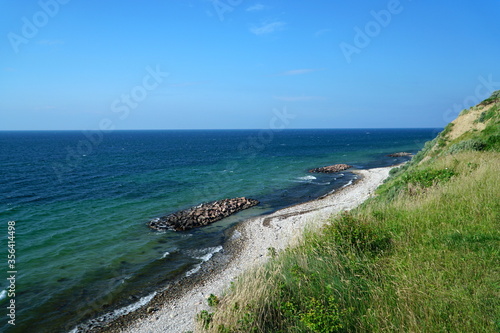
M244 197L208 202L156 218L149 222L149 227L155 230L189 230L217 222L258 204L257 200Z

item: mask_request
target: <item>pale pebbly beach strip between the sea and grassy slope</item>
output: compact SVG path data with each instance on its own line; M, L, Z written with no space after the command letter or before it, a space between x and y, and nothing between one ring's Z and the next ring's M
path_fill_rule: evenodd
M173 292L176 296L166 297L164 303L146 306L143 316L131 322L127 320L126 325L115 326L109 331L127 333L194 331L196 314L201 310L209 310L207 297L210 294L222 295L238 275L254 265L265 262L268 258L268 248L282 250L293 243L306 226L324 223L329 216L362 203L388 177L391 168L356 171L361 179L353 186L321 199L242 222L233 231L229 248L227 251L224 250L231 253L226 254L226 257L230 257L227 262L210 274L205 274L202 279L189 287L180 288L180 292L179 290ZM220 256L224 257L224 254Z

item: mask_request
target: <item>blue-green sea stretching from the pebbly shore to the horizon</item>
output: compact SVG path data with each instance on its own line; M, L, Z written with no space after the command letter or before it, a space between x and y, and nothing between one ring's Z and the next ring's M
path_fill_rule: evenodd
M309 201L355 175L310 174L405 161L436 129L0 132L0 331L69 332L142 304L221 250L244 219ZM157 217L224 198L260 205L186 232L156 232ZM15 297L9 297L8 222L15 221ZM15 326L8 323L15 300ZM142 303L141 303L142 302Z

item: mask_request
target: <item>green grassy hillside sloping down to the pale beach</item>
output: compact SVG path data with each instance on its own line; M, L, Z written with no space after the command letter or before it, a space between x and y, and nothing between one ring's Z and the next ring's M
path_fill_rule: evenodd
M500 331L499 95L464 110L376 197L212 296L199 329Z

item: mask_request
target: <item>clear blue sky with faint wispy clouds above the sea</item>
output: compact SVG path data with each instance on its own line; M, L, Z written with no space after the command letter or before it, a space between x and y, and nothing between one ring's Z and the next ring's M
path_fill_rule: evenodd
M0 0L0 130L444 127L498 0Z

